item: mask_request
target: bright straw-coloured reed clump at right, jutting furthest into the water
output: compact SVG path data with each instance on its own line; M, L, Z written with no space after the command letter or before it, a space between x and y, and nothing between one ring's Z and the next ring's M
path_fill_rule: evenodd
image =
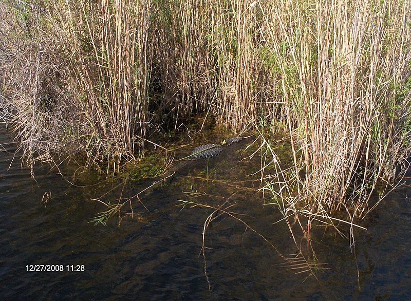
M283 200L286 218L308 217L306 233L314 219L334 224L337 211L353 230L408 167L409 9L394 1L292 1L265 14L294 161L293 173L267 177L265 189ZM377 188L385 193L371 202Z

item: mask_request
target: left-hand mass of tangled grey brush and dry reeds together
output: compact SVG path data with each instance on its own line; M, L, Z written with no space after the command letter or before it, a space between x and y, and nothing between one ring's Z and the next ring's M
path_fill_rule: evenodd
M147 3L8 1L2 93L29 165L59 152L119 163L144 150Z

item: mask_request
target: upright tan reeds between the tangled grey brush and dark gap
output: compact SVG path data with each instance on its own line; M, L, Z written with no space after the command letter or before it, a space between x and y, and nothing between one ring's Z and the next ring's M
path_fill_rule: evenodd
M148 122L150 2L80 1L55 11L54 28L71 41L65 55L74 60L70 75L86 145L117 160L134 158Z

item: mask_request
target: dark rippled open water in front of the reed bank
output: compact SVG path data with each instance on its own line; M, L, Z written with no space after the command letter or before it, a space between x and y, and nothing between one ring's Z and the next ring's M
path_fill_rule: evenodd
M243 214L236 216L291 257L287 254L296 250L288 229L284 223L273 224L278 213L262 206L260 195L240 185L222 193L217 181L199 183L188 178L142 195L141 201L150 212L133 199L133 212L140 218L125 217L120 227L118 218L112 218L107 227L95 226L87 220L104 206L90 198L101 196L110 184L72 186L46 166L36 168L33 181L18 158L9 168L13 145L7 142L10 140L3 128L0 143L9 152L2 149L0 153L1 299L411 298L409 186L397 189L370 214L365 221L368 231L357 231L357 264L347 240L332 231L316 230L314 249L328 268L317 271L317 279L305 279L307 273L295 274L301 270L290 270L263 238L240 221L220 215L210 223L205 236L207 279L200 255L201 234L213 210L200 206L182 209L176 206L177 200L222 208L233 205L227 210ZM210 167L216 162L210 161ZM200 163L190 172L199 174L201 168ZM226 168L214 170L211 178L232 179L235 174ZM129 184L123 196L133 196L140 188ZM182 193L192 190L207 190L208 195L193 198ZM116 201L119 191L106 198ZM45 193L51 197L42 203ZM27 271L30 265L58 265L63 271Z

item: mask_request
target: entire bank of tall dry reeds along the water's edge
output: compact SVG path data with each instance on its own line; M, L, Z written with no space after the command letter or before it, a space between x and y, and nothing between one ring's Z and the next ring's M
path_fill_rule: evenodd
M290 230L294 219L307 237L313 220L352 230L409 164L410 11L408 0L6 0L0 111L30 166L82 154L116 169L195 114L254 131L262 190Z

